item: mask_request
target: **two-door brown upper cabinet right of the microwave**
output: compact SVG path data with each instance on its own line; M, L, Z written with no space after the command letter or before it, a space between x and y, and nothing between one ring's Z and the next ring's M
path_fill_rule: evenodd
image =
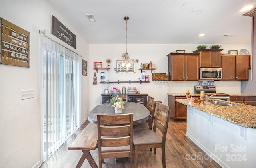
M222 80L248 80L250 55L222 55Z

